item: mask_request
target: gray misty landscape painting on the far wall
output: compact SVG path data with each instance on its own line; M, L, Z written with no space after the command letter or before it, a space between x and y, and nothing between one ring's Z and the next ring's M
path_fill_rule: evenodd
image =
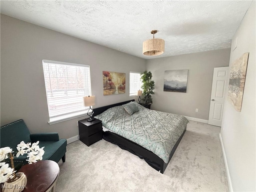
M188 70L164 71L164 91L187 92Z

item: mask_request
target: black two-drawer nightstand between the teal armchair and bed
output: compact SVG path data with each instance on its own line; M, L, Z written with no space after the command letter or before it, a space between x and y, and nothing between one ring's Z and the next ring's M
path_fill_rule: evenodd
M88 122L87 120L78 121L79 139L87 146L90 146L102 139L102 123L98 119L92 122Z

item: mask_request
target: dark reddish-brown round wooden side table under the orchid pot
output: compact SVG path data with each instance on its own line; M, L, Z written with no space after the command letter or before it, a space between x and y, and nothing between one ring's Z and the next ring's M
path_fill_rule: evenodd
M52 160L42 160L26 164L18 172L27 177L27 184L22 192L54 192L60 168Z

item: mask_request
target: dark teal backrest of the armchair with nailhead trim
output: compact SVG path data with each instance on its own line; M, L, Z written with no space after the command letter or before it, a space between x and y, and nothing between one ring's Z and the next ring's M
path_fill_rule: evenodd
M0 129L0 146L10 147L15 152L16 146L21 141L31 142L30 131L23 119L4 125Z

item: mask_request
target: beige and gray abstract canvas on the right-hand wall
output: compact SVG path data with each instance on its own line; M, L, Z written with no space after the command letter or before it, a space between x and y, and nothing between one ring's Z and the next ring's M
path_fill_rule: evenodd
M237 111L241 111L242 108L248 56L249 53L244 53L240 58L232 63L230 69L228 100Z

